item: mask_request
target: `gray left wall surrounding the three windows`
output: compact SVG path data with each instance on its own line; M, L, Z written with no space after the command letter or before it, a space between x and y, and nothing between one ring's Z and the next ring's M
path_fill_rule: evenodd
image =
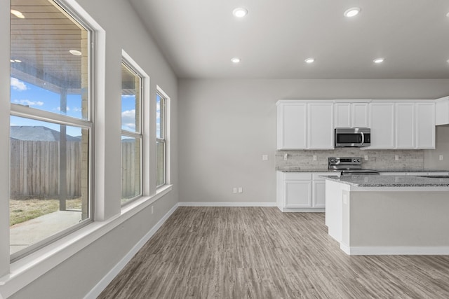
M3 8L10 6L9 0L0 0ZM95 184L98 190L96 200L105 202L105 218L120 213L120 145L121 145L121 50L126 51L150 77L150 112L156 115L156 84L171 98L171 182L173 190L154 203L154 214L149 208L136 214L128 221L93 242L82 251L74 254L65 262L53 268L39 279L15 293L12 298L83 298L84 295L102 279L116 263L156 224L178 201L177 179L177 78L164 60L147 30L140 23L128 1L123 0L78 0L106 33L106 53L100 53L105 59L105 99L98 99L98 105L105 104L104 113L98 118L99 125L105 130L103 151L96 159L102 161L104 168L97 169L100 181ZM2 9L3 11L9 11ZM1 15L4 15L3 13ZM9 13L0 19L0 27L8 28ZM3 32L3 31L1 31ZM4 37L6 36L6 37ZM8 34L0 36L1 44L8 44ZM9 57L8 47L0 47L0 57ZM2 62L4 59L2 58ZM9 62L8 62L9 63ZM4 65L4 64L1 64ZM9 64L8 64L9 65ZM9 69L0 68L0 90L9 90ZM2 94L3 95L3 94ZM146 103L147 104L147 103ZM2 97L1 111L8 113L9 99ZM3 112L1 114L4 115ZM3 118L2 118L3 119ZM8 120L8 116L4 118ZM154 119L154 118L153 118ZM3 122L3 120L2 120ZM4 122L3 122L4 123ZM1 140L6 142L9 135L8 125L0 127ZM149 125L149 138L154 140L156 122ZM156 144L154 144L154 147ZM150 149L154 153L154 148ZM151 155L151 165L155 165L156 156ZM8 169L8 163L1 155L0 169ZM150 190L156 188L156 174L153 172L148 181ZM8 190L7 174L1 173L1 190ZM4 199L4 198L3 198ZM4 201L3 201L4 202ZM3 207L3 206L2 206ZM1 221L4 224L4 221ZM1 238L6 232L1 232ZM1 252L2 254L4 252Z

